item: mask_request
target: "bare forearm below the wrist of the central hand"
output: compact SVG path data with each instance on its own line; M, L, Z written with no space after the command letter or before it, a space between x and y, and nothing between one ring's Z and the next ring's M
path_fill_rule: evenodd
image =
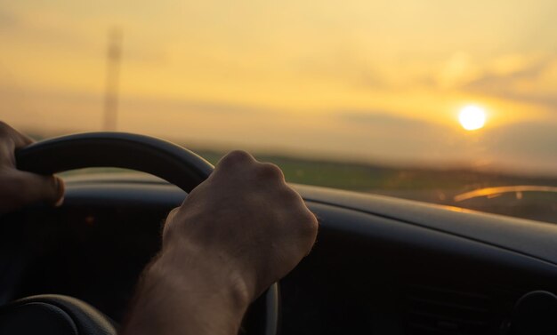
M144 273L122 334L237 334L246 287L202 260L163 253Z

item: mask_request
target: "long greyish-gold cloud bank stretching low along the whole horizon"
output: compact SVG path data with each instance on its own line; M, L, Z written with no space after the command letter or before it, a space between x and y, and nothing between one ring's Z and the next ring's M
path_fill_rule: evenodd
M102 97L86 93L26 91L0 87L0 115L27 129L99 130ZM204 100L123 97L118 122L141 132L204 146L322 153L386 164L488 162L487 168L557 173L557 122L531 122L458 131L446 124L380 109L298 115L292 111ZM25 126L25 127L23 127ZM50 127L50 128L48 128Z

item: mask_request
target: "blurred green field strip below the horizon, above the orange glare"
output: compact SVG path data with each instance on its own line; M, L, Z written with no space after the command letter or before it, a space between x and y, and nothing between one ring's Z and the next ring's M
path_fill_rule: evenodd
M223 156L222 153L214 151L197 152L212 164L216 164ZM474 170L358 164L264 154L254 156L262 162L277 164L284 171L288 182L356 191L442 189L466 192L480 187L503 185L557 186L557 178L533 178Z

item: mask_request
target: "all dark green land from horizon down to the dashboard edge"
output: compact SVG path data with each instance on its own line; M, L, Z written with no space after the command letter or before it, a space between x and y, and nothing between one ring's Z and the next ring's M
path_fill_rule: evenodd
M198 150L216 164L222 153ZM484 187L557 186L557 178L474 171L464 169L425 169L350 162L332 162L287 156L254 155L262 162L277 164L288 182L320 187L390 195L428 203L439 203L524 219L557 223L557 193L511 192L479 196L456 202L455 196Z

